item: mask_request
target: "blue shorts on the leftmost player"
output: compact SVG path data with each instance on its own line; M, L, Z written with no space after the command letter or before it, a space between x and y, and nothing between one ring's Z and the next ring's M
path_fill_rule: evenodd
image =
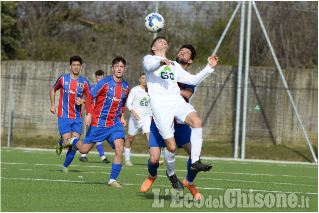
M77 132L79 134L82 134L82 118L70 119L58 117L58 125L61 136L70 132Z

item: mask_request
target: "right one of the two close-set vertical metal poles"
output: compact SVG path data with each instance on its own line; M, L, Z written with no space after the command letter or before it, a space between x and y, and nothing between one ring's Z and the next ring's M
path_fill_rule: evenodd
M250 58L250 32L251 32L251 11L252 2L248 4L247 15L247 35L246 35L246 57L245 57L245 80L244 80L244 99L243 99L243 124L242 124L242 146L240 157L245 159L246 146L246 118L247 118L247 94L248 94L248 77L249 77L249 58Z

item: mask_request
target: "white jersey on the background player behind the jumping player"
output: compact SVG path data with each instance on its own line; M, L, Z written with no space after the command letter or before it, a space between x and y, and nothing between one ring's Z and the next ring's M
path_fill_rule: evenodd
M126 101L126 107L131 111L134 111L140 117L151 116L151 109L149 107L150 96L145 89L142 89L140 85L133 87L129 93L128 99Z

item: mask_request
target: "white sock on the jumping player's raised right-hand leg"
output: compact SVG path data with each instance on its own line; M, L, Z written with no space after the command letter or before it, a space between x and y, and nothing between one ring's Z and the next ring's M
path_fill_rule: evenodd
M199 160L201 145L202 145L202 128L192 128L190 135L190 143L191 143L191 163Z

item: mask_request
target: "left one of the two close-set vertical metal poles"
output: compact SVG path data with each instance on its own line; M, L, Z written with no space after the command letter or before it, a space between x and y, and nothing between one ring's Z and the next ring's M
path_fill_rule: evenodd
M242 2L242 11L241 11L241 20L240 20L240 36L239 36L238 74L237 74L238 77L237 77L237 103L236 103L234 158L238 158L240 103L241 103L241 93L242 93L242 70L243 70L243 52L244 52L244 33L245 33L245 2Z

